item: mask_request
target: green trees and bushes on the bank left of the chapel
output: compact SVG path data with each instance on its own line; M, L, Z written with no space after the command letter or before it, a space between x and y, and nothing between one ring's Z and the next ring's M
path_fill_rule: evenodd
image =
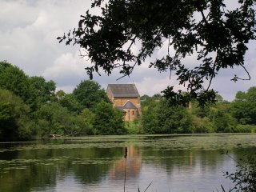
M53 81L29 77L0 62L0 141L46 138L50 134L126 134L122 113L105 90L82 81L71 94L56 91Z

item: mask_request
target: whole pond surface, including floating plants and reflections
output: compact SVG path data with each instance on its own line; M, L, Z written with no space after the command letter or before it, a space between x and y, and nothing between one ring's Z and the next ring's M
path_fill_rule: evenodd
M256 134L0 143L0 191L217 191L231 185L223 171L255 149Z

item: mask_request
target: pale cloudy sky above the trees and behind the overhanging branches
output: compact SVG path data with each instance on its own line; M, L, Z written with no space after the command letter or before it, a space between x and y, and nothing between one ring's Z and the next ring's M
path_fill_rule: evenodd
M29 76L53 80L56 90L71 93L82 80L89 79L84 68L90 66L90 61L79 57L78 46L59 44L56 38L77 27L80 15L90 10L90 4L90 0L0 0L0 61L18 66ZM97 14L98 10L90 11ZM251 80L230 81L234 74L247 77L242 68L237 68L222 70L212 83L211 87L227 101L234 100L239 90L256 86L256 42L250 42L248 47L245 63ZM130 77L117 81L122 75L114 70L110 76L94 74L94 81L104 89L110 83L134 83L139 94L150 96L160 93L166 86L184 89L174 75L170 77L169 73L160 74L154 68L148 68L150 61L166 54L166 49L164 46L156 50L153 58L136 67ZM185 62L193 63L193 56Z

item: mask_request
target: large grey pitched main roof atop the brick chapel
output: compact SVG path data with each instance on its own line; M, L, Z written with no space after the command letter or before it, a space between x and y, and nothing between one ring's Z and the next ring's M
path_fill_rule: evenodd
M109 84L107 90L111 90L114 97L122 98L137 98L139 97L138 90L134 84Z

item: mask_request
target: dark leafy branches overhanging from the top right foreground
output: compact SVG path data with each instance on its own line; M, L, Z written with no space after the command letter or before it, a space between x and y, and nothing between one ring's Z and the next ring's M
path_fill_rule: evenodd
M250 79L244 55L246 44L255 39L255 1L235 2L238 8L231 10L224 0L94 0L92 8L101 7L102 14L87 10L77 29L57 39L85 50L82 56L93 63L86 67L90 78L100 69L111 74L119 68L123 76L130 75L167 42L166 56L151 62L150 67L170 74L175 71L188 94L175 93L174 86L168 86L163 94L174 103L186 105L195 98L204 105L215 100L210 84L220 70L240 66ZM140 46L138 54L132 49L135 44ZM183 63L191 54L197 57L194 68ZM232 80L238 79L244 78L235 75Z

